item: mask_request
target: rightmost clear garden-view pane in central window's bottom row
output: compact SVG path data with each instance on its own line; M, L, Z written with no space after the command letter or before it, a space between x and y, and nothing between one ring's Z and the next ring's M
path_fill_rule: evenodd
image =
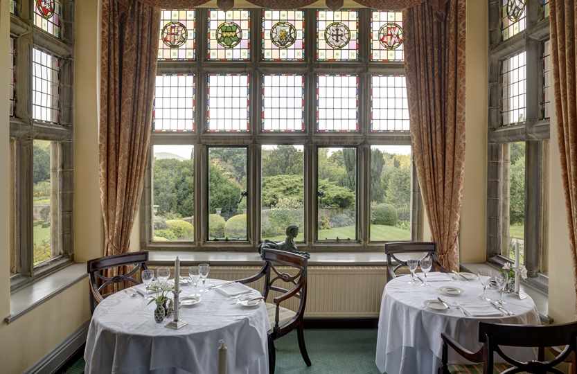
M370 178L370 240L411 240L411 146L371 146Z

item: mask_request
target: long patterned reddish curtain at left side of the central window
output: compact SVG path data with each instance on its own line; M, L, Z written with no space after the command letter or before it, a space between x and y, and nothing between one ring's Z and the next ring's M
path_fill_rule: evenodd
M105 249L128 251L152 125L160 9L103 0L100 65L100 200Z

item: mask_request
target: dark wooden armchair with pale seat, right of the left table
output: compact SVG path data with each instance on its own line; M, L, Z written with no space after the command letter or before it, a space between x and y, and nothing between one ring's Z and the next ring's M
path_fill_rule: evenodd
M307 302L307 267L308 258L297 253L279 251L278 249L262 249L260 253L265 265L255 276L240 279L239 283L251 283L258 281L265 277L265 285L263 290L263 297L267 301L271 291L280 292L280 295L272 299L272 303L266 303L267 312L269 314L269 321L271 326L268 332L268 346L269 346L269 372L274 374L274 366L276 362L276 350L274 348L274 341L284 335L287 335L292 330L296 330L296 336L299 340L299 349L301 355L307 366L311 365L308 357L307 348L305 346L304 335L304 314ZM289 274L278 269L278 267L290 267L296 271L294 274ZM293 271L293 272L294 272ZM280 287L275 283L283 281L290 283L294 287L290 290ZM291 298L299 299L299 308L296 312L283 308L281 303Z

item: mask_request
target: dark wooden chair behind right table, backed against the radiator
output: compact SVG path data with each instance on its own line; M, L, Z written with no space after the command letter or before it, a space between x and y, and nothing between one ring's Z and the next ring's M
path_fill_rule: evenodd
M400 255L418 256L423 258L431 256L433 259L433 271L447 270L438 262L436 244L434 242L390 242L384 244L384 254L387 255L387 282L396 277L396 271L407 266L407 259L400 258ZM393 261L396 262L393 263Z

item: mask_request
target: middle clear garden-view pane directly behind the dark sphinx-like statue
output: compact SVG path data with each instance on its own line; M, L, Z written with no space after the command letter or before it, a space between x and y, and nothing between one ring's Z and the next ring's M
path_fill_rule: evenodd
M260 202L261 240L281 241L287 226L299 226L296 241L305 240L303 145L263 145Z

